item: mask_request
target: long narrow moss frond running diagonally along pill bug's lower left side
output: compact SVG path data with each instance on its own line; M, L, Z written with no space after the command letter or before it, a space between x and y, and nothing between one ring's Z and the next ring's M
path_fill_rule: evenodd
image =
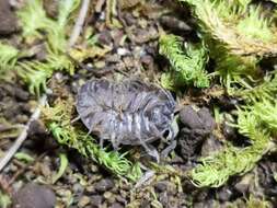
M83 157L89 158L119 177L136 181L142 173L137 163L126 159L125 153L102 149L95 140L78 126L70 124L72 100L58 100L54 107L43 109L43 119L48 130L60 145L78 150Z

